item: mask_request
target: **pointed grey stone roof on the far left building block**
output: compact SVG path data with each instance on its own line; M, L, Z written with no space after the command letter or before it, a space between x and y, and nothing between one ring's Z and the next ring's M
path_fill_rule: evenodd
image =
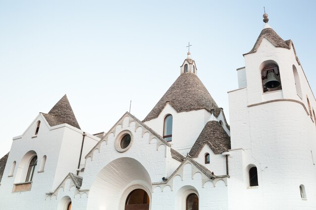
M50 109L48 114L42 114L50 126L67 123L81 129L66 94Z

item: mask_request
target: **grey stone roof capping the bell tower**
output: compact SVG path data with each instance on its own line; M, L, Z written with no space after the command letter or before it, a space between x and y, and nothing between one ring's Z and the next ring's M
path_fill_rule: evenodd
M253 48L248 53L256 52L261 44L262 39L264 38L267 38L276 47L283 47L286 49L291 49L292 47L291 40L284 41L272 28L265 28L261 31Z

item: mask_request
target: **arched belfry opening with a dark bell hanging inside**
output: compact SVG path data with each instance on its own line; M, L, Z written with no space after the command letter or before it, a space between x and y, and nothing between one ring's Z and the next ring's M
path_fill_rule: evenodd
M279 65L274 60L266 60L260 65L262 91L264 93L282 90Z

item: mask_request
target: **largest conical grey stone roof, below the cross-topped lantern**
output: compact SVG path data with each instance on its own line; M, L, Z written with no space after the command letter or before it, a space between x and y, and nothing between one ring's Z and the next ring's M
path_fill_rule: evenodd
M153 107L143 121L157 118L169 103L177 112L206 109L211 112L219 107L198 77L193 73L183 73Z

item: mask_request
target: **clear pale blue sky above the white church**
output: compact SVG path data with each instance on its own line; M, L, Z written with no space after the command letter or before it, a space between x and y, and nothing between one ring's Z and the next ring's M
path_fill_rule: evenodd
M81 128L143 119L179 76L190 41L198 76L228 110L236 68L264 23L294 42L316 91L316 1L1 1L0 156L66 93Z

